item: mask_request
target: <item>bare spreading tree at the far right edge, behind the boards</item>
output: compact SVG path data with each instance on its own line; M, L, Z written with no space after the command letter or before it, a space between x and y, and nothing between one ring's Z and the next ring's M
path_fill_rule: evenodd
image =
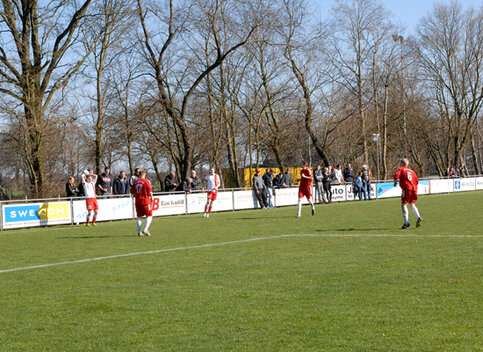
M457 166L465 161L483 101L483 10L463 12L456 1L435 4L418 33L422 71L439 130L428 131L429 148L440 169Z

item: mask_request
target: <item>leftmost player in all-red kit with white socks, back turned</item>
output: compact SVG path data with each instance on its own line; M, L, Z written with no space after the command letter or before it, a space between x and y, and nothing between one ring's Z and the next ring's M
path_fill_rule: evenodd
M139 178L131 186L131 194L134 194L135 197L138 236L151 236L149 225L153 221L153 188L151 182L146 179L146 171L139 172ZM141 232L143 216L146 216L146 222L144 230Z

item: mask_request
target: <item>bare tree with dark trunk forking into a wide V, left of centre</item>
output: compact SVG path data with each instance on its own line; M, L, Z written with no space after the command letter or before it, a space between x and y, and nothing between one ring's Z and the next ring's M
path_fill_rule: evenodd
M218 36L218 32L213 32L212 37L212 61L204 65L203 60L198 60L195 53L180 50L179 54L174 54L173 48L176 40L185 40L185 43L194 44L197 42L197 33L195 28L190 28L190 20L208 21L211 26L220 26L223 23L225 6L234 6L236 2L231 1L200 1L195 2L191 6L181 4L180 8L175 8L173 0L169 1L169 12L164 13L160 8L155 6L144 9L142 1L138 0L138 16L142 27L142 43L145 50L145 59L152 68L153 78L159 90L161 104L172 120L176 129L176 135L179 136L179 151L176 155L176 166L182 178L188 178L191 172L191 164L193 159L193 145L191 141L191 133L189 128L189 109L193 93L206 76L214 69L219 67L223 61L238 48L245 45L256 24L248 24L240 28L231 28L234 30L224 33L232 38L239 38L234 44L223 47L228 41ZM186 6L184 6L186 5ZM182 13L181 9L185 8L186 12ZM196 14L192 11L196 10ZM237 11L238 12L238 11ZM149 17L152 15L152 17ZM147 21L150 21L148 26ZM165 35L163 38L153 38L153 34L148 30L154 29L153 25L158 22L161 27L164 26ZM154 30L153 30L154 32ZM162 41L162 45L157 45L158 41ZM179 47L177 49L180 49ZM188 48L189 49L189 48ZM201 48L200 52L203 52ZM184 54L184 57L181 55ZM176 61L176 65L172 62ZM195 65L198 64L198 65ZM190 75L188 73L191 73ZM189 80L189 82L188 82Z

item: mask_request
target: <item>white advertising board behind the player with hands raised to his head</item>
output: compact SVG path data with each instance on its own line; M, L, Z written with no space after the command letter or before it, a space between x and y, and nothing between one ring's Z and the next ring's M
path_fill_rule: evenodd
M97 213L97 221L132 219L133 201L130 197L97 199L99 210ZM72 202L74 210L74 223L84 223L87 218L87 209L85 200L74 200Z

